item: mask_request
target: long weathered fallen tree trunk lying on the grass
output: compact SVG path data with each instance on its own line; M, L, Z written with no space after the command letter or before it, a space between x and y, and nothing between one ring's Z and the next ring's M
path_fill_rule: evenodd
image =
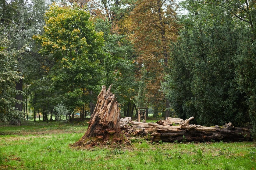
M152 141L249 141L250 132L249 128L245 127L234 127L231 123L224 126L205 127L200 125L189 124L190 120L194 117L190 117L187 120L182 120L179 126L172 126L175 124L167 119L160 120L157 123L140 123L130 122L129 129L123 128L126 134L132 131L133 135L148 135L151 134ZM176 121L176 120L175 120ZM139 127L139 128L138 128Z

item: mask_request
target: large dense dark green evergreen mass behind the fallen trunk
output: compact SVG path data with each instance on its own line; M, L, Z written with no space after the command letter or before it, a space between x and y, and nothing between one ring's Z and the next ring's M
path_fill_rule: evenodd
M189 18L182 20L185 26L173 45L168 83L163 84L171 108L180 118L194 116L197 124L229 121L244 126L248 105L237 83L236 62L244 43L241 30L247 29L231 13L221 12L219 5L187 4Z

